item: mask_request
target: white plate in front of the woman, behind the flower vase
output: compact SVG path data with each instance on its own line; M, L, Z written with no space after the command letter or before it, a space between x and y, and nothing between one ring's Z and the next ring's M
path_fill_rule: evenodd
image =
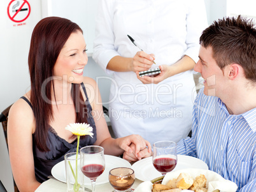
M115 167L129 167L131 168L131 163L127 162L120 157L115 157L112 155L104 155L105 158L105 170L101 176L97 177L96 185L97 184L104 184L108 182L108 173L111 169ZM66 182L66 172L65 172L65 162L57 163L52 167L52 176L59 181ZM90 179L85 177L85 185L91 185Z

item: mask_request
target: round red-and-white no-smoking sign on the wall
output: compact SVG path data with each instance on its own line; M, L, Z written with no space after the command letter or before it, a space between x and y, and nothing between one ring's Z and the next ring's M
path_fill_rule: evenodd
M30 15L30 4L27 0L11 0L8 4L7 14L16 23L24 22Z

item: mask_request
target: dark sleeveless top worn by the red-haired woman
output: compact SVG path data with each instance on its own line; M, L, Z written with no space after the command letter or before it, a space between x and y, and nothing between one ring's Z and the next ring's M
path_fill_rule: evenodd
M87 118L88 124L93 128L94 136L91 138L90 136L85 136L83 139L80 139L79 148L83 146L89 146L96 142L97 135L96 135L96 126L94 122L94 118L91 115L92 106L90 106L89 99L85 90L85 86L82 83L81 86L83 87L83 91L86 96L85 105L87 106L87 112L89 112L89 116ZM24 96L21 97L31 106L31 103L27 98ZM64 155L66 153L76 152L76 144L77 139L73 141L73 143L68 143L65 139L60 138L57 135L57 132L53 129L53 127L49 127L48 129L48 139L47 139L47 146L50 151L39 151L36 144L34 143L34 134L32 135L33 139L33 155L34 155L34 171L36 174L36 180L38 182L44 182L48 179L48 176L51 176L52 167L64 160Z

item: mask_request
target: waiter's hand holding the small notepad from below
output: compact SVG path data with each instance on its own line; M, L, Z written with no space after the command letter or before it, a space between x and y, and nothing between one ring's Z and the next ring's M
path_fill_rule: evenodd
M169 72L171 69L171 66L169 65L160 65L160 74L152 75L152 76L143 76L139 77L139 72L136 72L137 78L143 83L143 84L158 84L162 80L171 77L172 74Z

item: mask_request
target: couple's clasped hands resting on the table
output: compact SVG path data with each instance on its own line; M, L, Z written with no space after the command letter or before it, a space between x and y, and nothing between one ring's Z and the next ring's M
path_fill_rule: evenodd
M129 162L136 162L141 158L152 155L151 144L139 135L131 135L123 138L120 148L125 150L123 158Z

